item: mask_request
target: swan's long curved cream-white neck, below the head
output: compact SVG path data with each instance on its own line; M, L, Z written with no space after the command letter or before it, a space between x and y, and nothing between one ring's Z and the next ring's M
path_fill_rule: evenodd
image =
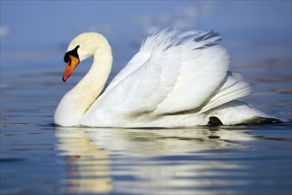
M111 73L111 46L104 39L94 54L93 64L88 74L70 91L58 105L54 121L58 125L79 125L84 113L92 105L104 88L105 82Z

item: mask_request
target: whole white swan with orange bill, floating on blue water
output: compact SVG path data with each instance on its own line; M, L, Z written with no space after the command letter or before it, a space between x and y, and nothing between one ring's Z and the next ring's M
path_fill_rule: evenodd
M100 95L111 72L111 46L103 35L78 35L65 53L63 81L85 58L93 56L93 64L60 101L55 124L179 128L279 121L235 100L250 94L250 87L228 71L229 55L219 40L212 31L166 28L145 39Z

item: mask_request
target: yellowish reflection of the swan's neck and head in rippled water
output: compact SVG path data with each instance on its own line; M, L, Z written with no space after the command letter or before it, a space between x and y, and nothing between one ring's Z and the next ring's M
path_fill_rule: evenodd
M66 192L111 191L108 152L91 144L86 132L58 129L58 149L63 151L66 166Z

